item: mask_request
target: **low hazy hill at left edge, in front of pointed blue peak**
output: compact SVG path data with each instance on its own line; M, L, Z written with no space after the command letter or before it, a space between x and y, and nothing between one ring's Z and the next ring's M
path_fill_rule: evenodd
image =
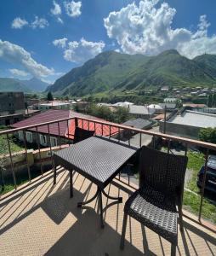
M0 78L0 91L23 91L31 90L18 79Z

